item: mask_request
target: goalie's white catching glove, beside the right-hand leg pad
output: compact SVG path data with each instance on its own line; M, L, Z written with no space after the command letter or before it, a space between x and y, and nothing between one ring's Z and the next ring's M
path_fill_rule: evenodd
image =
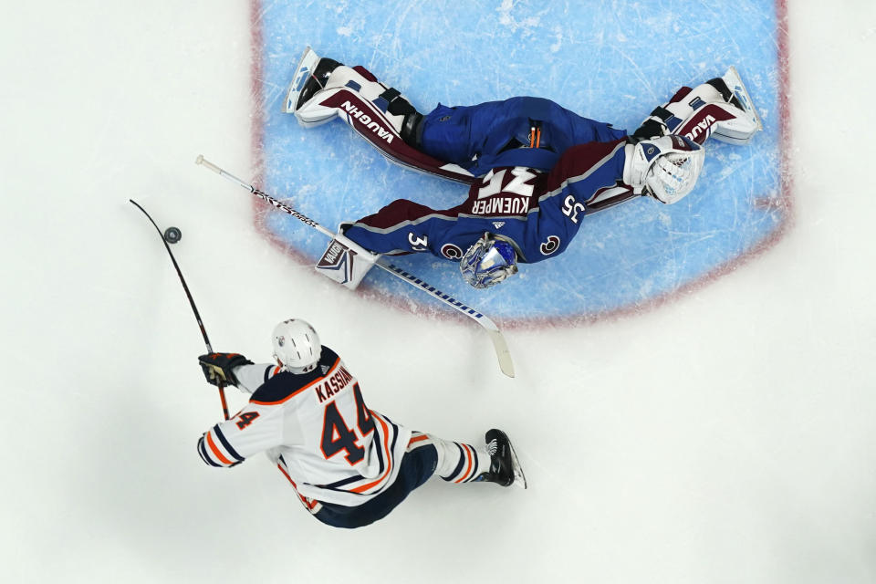
M627 146L623 182L637 193L661 203L676 203L694 190L703 170L703 147L685 136L671 134Z

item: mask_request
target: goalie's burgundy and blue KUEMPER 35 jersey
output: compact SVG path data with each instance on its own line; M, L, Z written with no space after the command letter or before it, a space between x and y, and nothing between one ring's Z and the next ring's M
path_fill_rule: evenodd
M573 146L547 174L496 168L451 209L393 201L349 226L345 235L380 254L431 252L458 261L490 232L514 242L519 261L535 263L562 253L585 214L634 196L622 183L625 145L618 140Z

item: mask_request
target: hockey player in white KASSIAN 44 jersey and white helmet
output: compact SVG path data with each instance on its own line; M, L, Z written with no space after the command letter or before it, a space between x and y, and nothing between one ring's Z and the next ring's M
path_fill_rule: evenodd
M273 345L276 364L236 353L198 358L208 382L252 394L198 440L205 464L231 467L264 452L308 511L334 527L381 519L433 475L526 488L506 433L488 431L485 446L450 442L370 410L359 381L304 320L279 323Z

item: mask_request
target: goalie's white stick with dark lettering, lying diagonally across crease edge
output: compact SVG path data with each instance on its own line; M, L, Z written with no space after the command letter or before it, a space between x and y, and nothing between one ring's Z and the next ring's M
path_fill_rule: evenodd
M225 172L223 169L216 166L213 162L206 160L203 155L198 155L198 158L194 161L195 164L202 165L211 171L223 176L228 179L232 183L237 183L238 186L245 188L250 193L255 194L256 197L266 201L267 203L271 203L276 209L283 211L284 213L290 214L295 217L298 221L308 224L309 226L316 229L319 233L323 235L327 235L328 237L334 239L341 239L344 243L348 243L349 240L346 238L335 234L322 225L318 224L316 221L311 219L305 214L298 213L295 209L288 206L286 203L281 203L277 201L271 195L259 191L252 184L244 183L242 180L237 178L234 174L230 172ZM353 242L349 242L351 245L355 245ZM357 246L358 247L358 246ZM170 250L168 250L170 251ZM365 251L365 250L362 250ZM366 252L367 253L367 252ZM438 298L444 304L449 306L450 308L454 308L457 312L461 312L468 318L472 318L474 322L478 323L481 327L486 330L486 333L489 335L490 340L493 341L493 349L495 349L495 356L499 360L499 369L502 370L508 377L514 377L514 361L511 360L511 351L508 350L508 344L506 343L505 337L502 335L502 331L499 330L498 327L495 326L495 322L493 322L490 318L487 318L485 315L481 314L474 308L470 308L465 306L462 302L457 300L456 298L450 296L449 294L444 294L441 290L436 287L433 287L426 282L423 282L417 276L413 276L408 272L401 269L401 267L394 266L384 260L383 258L378 258L377 261L374 262L376 266L380 266L382 269L389 272L392 276L396 276L401 278L401 280L407 282L413 287L420 288L426 294L431 295L432 297Z

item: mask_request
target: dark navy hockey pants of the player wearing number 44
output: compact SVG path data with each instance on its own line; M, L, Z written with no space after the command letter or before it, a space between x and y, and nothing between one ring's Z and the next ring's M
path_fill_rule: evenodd
M433 445L416 448L401 458L398 478L386 491L355 507L322 503L315 516L332 527L353 529L370 525L389 515L413 489L429 480L436 464L438 453Z

